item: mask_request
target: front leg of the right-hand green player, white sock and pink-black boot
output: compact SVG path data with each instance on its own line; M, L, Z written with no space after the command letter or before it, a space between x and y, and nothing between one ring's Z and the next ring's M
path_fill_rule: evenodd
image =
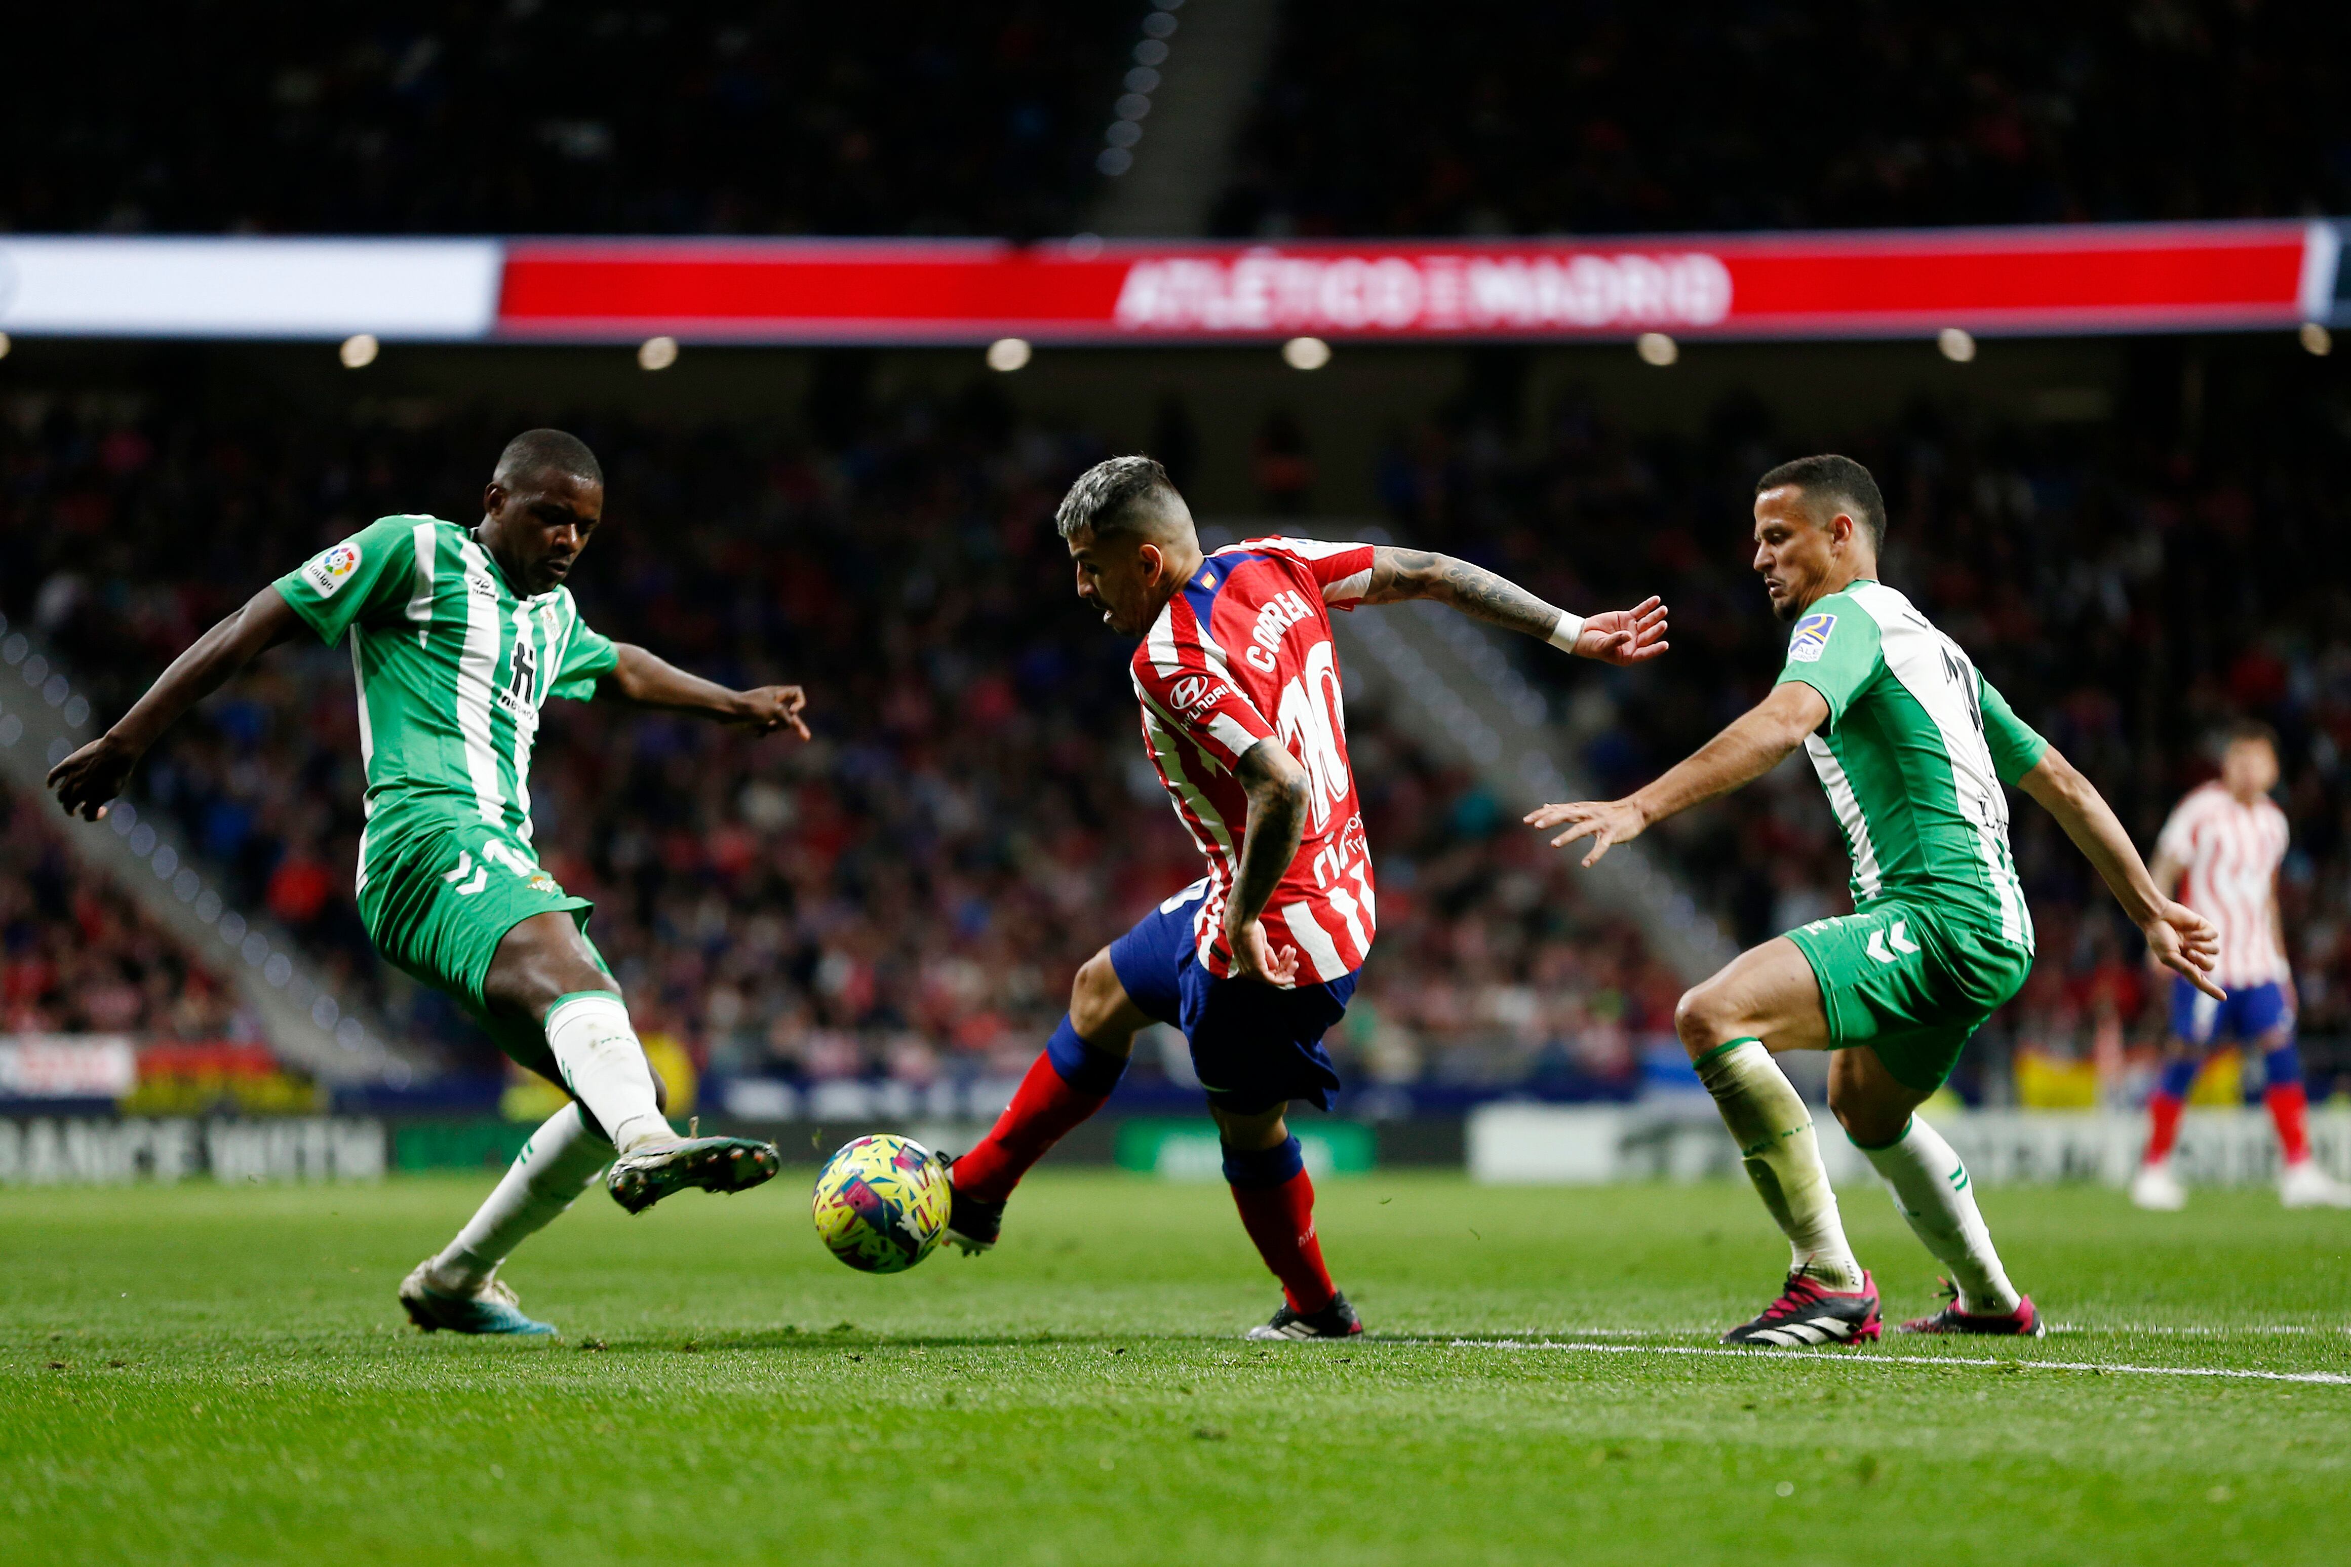
M1775 1050L1829 1043L1813 966L1787 937L1742 951L1681 998L1674 1029L1789 1245L1780 1299L1723 1339L1794 1346L1878 1337L1878 1292L1846 1243L1813 1114L1773 1062Z

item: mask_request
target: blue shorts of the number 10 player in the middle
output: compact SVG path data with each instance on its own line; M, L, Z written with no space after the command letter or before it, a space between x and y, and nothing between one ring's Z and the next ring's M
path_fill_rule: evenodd
M1218 980L1201 968L1192 937L1206 893L1208 883L1194 881L1110 944L1119 984L1157 1022L1183 1029L1192 1071L1218 1109L1255 1116L1291 1099L1331 1109L1338 1069L1321 1036L1347 1015L1357 975L1295 989Z

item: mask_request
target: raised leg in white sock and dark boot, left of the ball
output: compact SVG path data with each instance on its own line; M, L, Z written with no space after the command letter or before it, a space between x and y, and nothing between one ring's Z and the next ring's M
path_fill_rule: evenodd
M604 1184L621 1208L644 1212L686 1186L743 1191L776 1175L773 1144L670 1130L628 1006L569 914L534 914L508 930L482 996L494 1015L545 1031L564 1088L618 1149Z

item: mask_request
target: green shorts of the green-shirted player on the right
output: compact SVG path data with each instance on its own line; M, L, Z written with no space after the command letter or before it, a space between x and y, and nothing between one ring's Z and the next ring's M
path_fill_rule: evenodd
M1869 1045L1895 1081L1935 1092L1984 1020L2024 989L2029 947L1933 904L1881 897L1787 933L1820 980L1829 1048Z

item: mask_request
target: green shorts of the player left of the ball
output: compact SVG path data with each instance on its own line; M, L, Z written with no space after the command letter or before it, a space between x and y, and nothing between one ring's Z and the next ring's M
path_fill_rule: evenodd
M376 834L383 834L381 839ZM588 942L585 897L564 893L529 843L480 820L369 822L360 921L383 959L463 1006L517 1064L562 1083L536 1027L494 1017L482 984L505 933L534 914L564 912ZM604 954L588 942L604 973ZM618 989L618 987L616 987Z

